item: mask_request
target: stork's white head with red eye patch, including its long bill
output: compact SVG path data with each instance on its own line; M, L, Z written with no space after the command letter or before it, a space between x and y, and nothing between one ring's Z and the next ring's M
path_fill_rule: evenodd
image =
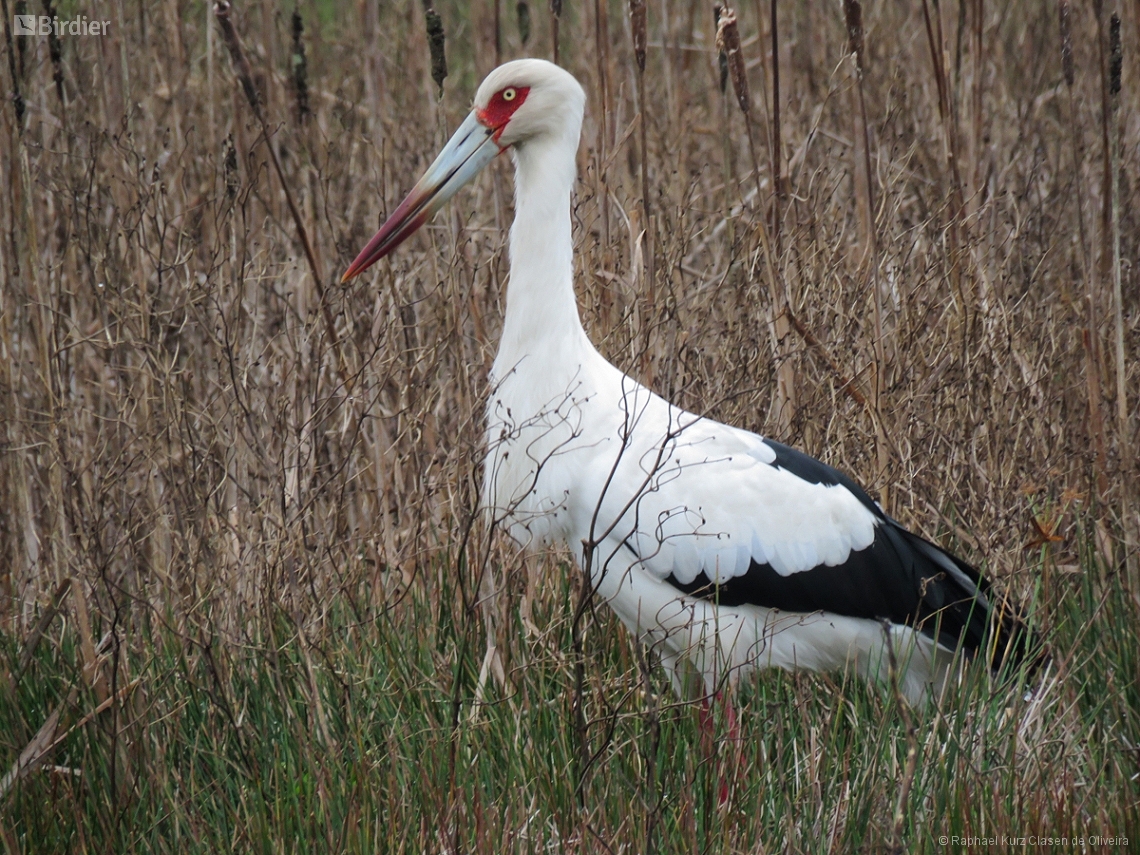
M492 71L475 92L471 114L341 282L394 250L496 155L544 142L577 147L585 104L578 81L545 59L516 59Z

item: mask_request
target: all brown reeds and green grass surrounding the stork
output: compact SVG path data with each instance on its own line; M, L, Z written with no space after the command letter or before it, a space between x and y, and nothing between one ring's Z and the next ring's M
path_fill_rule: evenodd
M759 675L732 772L612 616L576 630L569 556L478 514L508 165L337 284L496 46L522 52L514 6L433 8L441 98L415 0L299 6L300 36L238 5L263 124L204 3L114 6L58 52L3 31L6 850L1118 850L1089 840L1140 828L1134 17L1109 93L1110 10L1069 9L1062 62L1052 7L865 3L856 78L838 7L781 3L779 39L740 7L750 104L780 99L762 174L709 8L645 7L637 96L626 2L556 28L529 5L528 52L557 32L591 96L573 221L602 351L860 473L1054 653L1032 694L971 674L910 714Z

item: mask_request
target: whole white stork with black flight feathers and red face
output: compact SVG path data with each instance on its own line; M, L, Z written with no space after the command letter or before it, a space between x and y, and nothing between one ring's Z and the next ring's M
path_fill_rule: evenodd
M492 71L474 108L344 274L391 252L498 154L515 166L511 278L487 406L482 500L522 546L565 544L678 692L749 668L942 691L955 653L1020 658L1028 634L963 561L848 477L673 406L613 367L578 317L570 195L586 96L556 65ZM693 678L699 682L693 684Z

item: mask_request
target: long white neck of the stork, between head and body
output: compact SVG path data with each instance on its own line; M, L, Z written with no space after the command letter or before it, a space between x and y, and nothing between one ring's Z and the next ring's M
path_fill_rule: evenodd
M570 194L579 129L528 140L514 149L515 212L511 280L495 374L529 363L572 359L592 350L573 294ZM537 367L537 366L536 366Z

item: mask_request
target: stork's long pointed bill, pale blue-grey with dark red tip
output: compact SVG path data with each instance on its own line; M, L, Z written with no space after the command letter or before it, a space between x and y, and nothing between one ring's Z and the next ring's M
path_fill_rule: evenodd
M491 137L494 132L494 128L487 128L471 113L423 178L412 188L412 193L344 271L341 282L348 282L364 272L399 246L427 222L463 185L474 178L479 170L490 163L503 150Z

